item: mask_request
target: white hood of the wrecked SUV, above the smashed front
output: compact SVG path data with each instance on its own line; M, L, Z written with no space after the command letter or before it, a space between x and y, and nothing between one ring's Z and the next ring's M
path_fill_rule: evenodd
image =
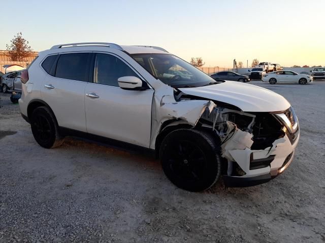
M290 103L283 96L273 91L234 81L179 90L187 95L228 103L248 112L274 112L290 107Z

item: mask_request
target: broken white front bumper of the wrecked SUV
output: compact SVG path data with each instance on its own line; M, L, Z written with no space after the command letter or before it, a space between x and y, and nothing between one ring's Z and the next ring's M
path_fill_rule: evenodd
M293 141L286 134L283 138L274 141L273 146L264 150L233 150L230 151L237 164L245 172L243 176L224 175L226 187L248 187L266 183L277 177L288 168L294 159L295 148L299 141L299 128L296 139ZM251 170L251 162L267 159L273 156L269 166ZM253 160L252 160L253 158Z

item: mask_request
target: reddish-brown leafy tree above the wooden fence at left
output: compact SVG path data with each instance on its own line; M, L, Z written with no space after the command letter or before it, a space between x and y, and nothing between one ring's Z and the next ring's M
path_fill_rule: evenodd
M28 45L28 41L22 37L22 33L19 32L14 35L14 38L10 41L10 45L7 46L11 61L25 61L32 52L31 47Z

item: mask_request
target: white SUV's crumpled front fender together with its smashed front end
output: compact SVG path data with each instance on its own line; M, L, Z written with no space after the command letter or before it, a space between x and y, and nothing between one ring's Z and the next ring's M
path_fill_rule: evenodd
M243 112L229 104L198 98L181 92L155 97L154 108L159 112L153 111L153 148L157 136L173 126L210 130L219 138L227 187L267 182L291 163L299 140L292 107L282 112Z

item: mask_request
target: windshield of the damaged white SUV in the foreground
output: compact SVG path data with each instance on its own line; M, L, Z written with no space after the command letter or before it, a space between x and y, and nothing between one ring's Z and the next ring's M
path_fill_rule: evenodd
M154 77L173 88L217 84L212 77L174 55L150 53L131 56Z

